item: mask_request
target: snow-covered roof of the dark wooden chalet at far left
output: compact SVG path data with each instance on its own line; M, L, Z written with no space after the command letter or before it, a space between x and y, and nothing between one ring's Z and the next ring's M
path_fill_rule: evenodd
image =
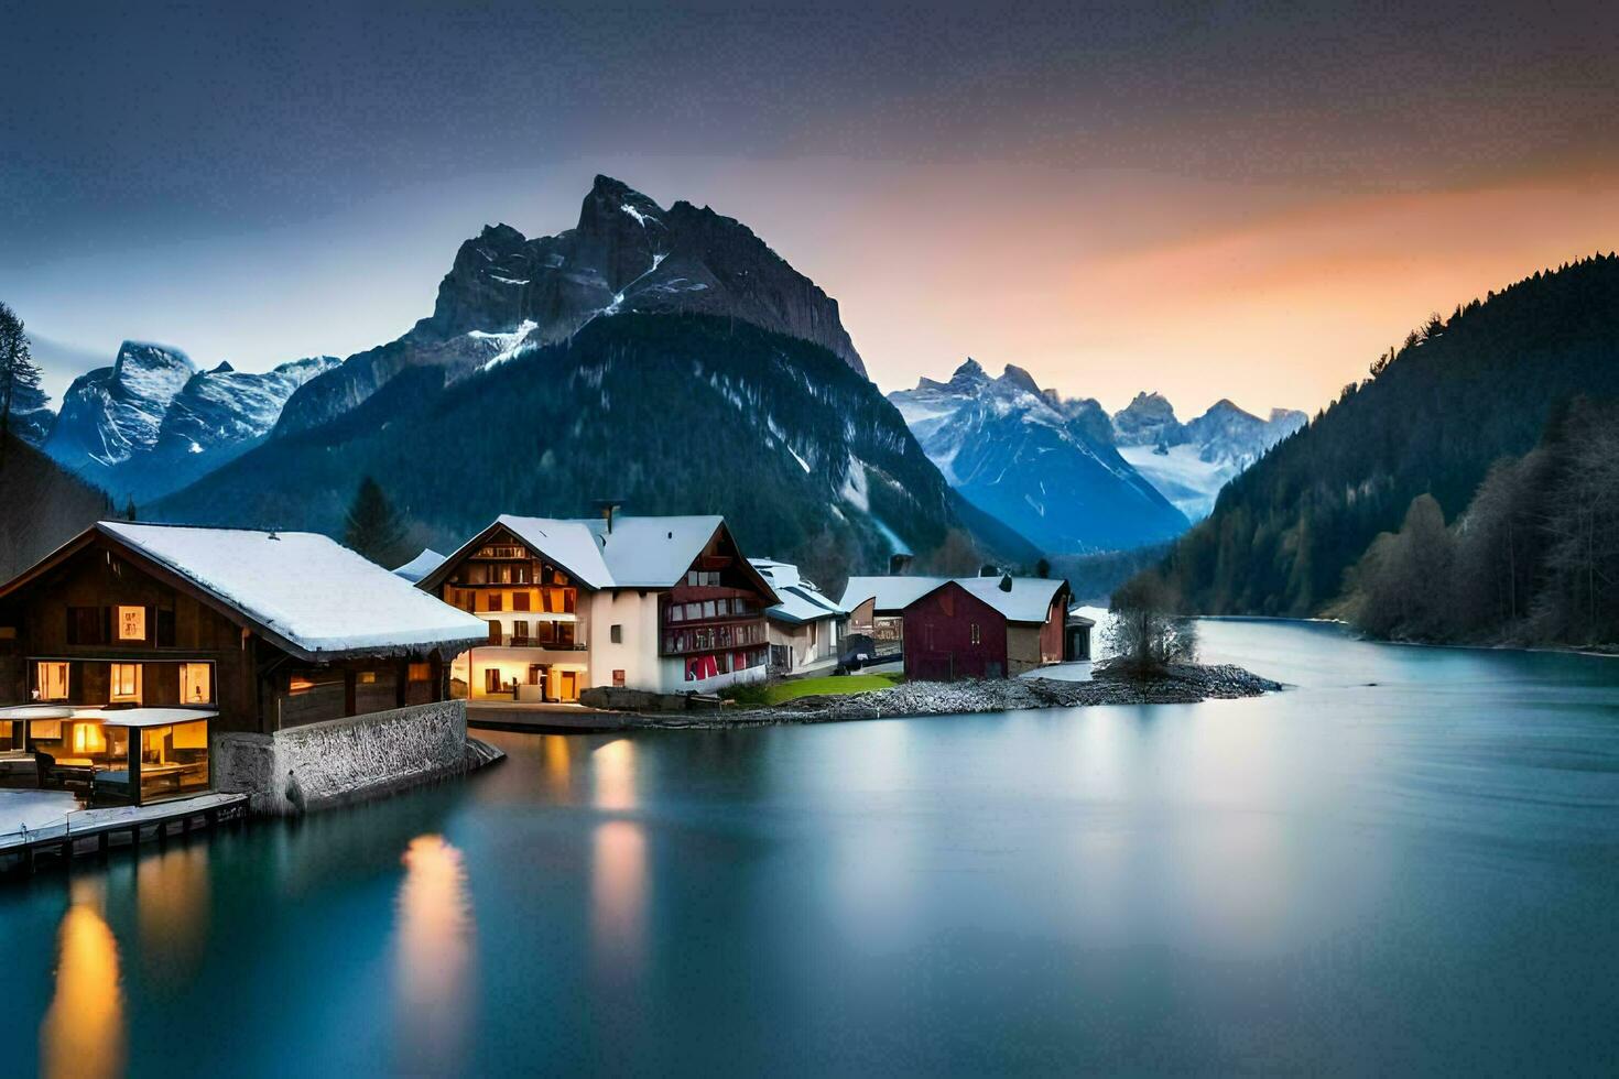
M489 626L314 532L99 521L96 529L191 581L308 658L424 652Z

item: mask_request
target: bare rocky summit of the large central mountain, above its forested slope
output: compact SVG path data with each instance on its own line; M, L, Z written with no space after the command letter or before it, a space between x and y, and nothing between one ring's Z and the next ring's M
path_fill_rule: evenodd
M432 315L311 380L287 403L277 432L332 421L406 369L440 367L457 382L627 312L738 319L821 345L866 374L837 301L746 225L690 202L665 210L596 176L573 228L528 239L494 225L463 243Z

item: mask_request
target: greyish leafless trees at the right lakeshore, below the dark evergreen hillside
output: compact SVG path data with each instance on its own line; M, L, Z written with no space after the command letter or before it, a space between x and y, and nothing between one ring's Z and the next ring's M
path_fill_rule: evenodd
M1619 404L1554 411L1451 527L1418 495L1350 573L1342 613L1412 641L1619 642Z

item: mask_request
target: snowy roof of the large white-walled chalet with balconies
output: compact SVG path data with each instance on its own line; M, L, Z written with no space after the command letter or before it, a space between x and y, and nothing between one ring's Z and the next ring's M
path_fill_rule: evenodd
M495 518L495 524L505 526L593 589L667 589L680 584L724 523L716 514L615 516L609 532L602 518L520 518L510 513ZM460 558L481 537L482 532L463 544L450 560Z

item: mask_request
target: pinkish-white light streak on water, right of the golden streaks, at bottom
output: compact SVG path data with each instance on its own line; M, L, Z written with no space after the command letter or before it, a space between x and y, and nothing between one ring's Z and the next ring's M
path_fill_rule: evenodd
M448 1074L471 1018L473 909L461 853L439 835L410 841L398 893L397 1024L402 1069Z

